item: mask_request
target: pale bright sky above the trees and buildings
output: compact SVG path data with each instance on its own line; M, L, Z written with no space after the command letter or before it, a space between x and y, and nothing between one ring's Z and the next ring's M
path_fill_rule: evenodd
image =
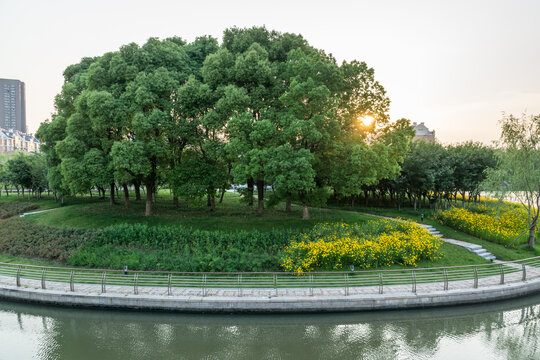
M0 0L0 78L26 83L30 132L50 118L64 69L150 37L221 41L229 27L300 33L365 61L390 117L444 143L499 138L502 114L540 113L540 1Z

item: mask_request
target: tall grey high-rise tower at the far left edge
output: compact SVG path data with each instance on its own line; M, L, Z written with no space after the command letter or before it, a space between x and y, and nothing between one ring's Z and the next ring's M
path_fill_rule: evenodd
M0 79L0 128L26 133L26 95L22 81Z

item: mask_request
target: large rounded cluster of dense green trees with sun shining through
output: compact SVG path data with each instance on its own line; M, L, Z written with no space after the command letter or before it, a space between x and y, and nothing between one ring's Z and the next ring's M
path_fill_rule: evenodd
M393 180L408 151L408 120L389 122L390 101L374 70L338 64L297 34L231 28L222 44L149 39L84 58L64 72L56 112L38 137L49 187L61 195L129 187L179 197L215 196L231 184L290 205L329 193L360 194ZM371 116L366 126L359 119Z

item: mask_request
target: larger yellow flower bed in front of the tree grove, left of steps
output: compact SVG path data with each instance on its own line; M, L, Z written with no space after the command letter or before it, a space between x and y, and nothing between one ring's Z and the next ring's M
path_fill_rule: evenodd
M364 225L317 224L291 240L281 266L291 272L340 270L350 265L369 269L437 260L440 240L413 223L380 220Z

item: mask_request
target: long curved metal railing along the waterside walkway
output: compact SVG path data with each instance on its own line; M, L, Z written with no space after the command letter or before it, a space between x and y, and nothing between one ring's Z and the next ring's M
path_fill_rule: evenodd
M199 296L416 293L478 288L538 277L540 257L483 265L310 273L125 271L0 263L0 284L71 292L169 296L186 291Z

